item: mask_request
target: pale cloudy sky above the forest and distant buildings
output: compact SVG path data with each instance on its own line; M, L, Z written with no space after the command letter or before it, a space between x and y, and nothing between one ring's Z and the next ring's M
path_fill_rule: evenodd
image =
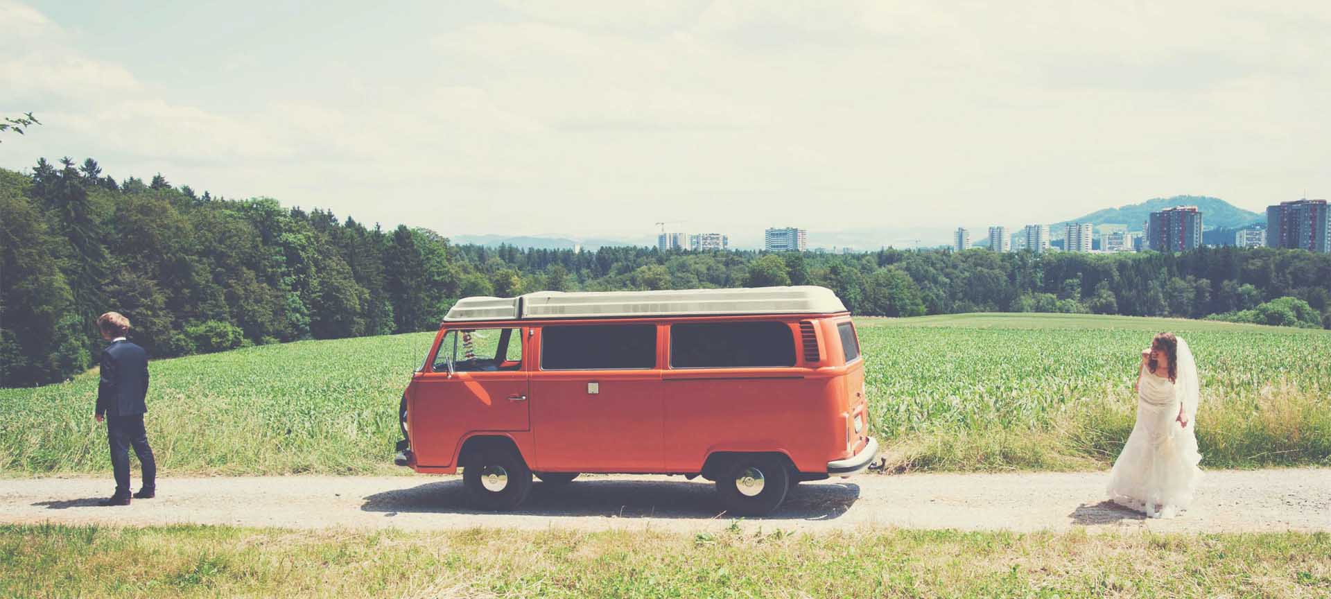
M44 122L0 166L741 246L1331 197L1326 1L373 4L0 0L0 116Z

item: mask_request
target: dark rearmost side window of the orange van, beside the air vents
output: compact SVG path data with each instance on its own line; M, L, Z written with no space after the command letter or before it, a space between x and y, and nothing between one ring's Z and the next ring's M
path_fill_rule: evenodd
M689 322L669 327L676 369L795 366L795 333L785 322Z

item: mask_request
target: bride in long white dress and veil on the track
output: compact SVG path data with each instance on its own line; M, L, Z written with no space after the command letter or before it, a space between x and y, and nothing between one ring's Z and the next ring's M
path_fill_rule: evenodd
M1109 498L1149 518L1173 518L1193 502L1197 465L1197 361L1171 333L1151 339L1137 373L1137 426L1109 474Z

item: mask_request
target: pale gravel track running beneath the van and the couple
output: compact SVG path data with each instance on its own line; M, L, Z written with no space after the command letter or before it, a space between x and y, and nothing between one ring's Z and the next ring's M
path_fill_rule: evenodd
M137 474L137 473L136 473ZM1147 520L1103 503L1107 473L861 475L804 483L765 530L1008 528L1017 531L1331 531L1331 470L1213 471L1193 508ZM728 526L712 485L680 477L588 477L536 483L523 510L466 507L457 477L168 478L156 499L98 507L105 478L0 479L0 522L236 524L286 528L471 527L673 530Z

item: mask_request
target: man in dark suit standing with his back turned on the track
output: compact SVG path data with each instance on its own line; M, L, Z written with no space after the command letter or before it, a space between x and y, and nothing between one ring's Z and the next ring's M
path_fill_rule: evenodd
M116 494L102 506L129 504L129 447L134 447L144 469L144 486L133 497L150 499L157 493L157 462L148 446L144 414L148 406L148 353L125 338L129 318L108 311L97 318L101 337L110 345L101 351L101 383L97 386L97 422L106 422L110 467L116 473Z

